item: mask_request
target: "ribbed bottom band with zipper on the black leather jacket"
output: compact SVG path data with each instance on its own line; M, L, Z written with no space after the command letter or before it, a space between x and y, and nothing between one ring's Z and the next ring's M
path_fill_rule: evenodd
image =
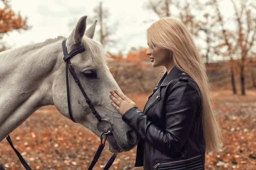
M201 155L180 161L157 163L156 170L204 170Z

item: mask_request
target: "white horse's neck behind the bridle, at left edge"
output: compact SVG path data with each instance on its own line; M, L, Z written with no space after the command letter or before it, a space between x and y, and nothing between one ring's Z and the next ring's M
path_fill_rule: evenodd
M61 41L0 53L0 141L38 108L53 105L50 75L60 60Z

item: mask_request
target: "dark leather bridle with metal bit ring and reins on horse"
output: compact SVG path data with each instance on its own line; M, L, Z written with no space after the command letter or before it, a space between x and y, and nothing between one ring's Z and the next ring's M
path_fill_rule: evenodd
M76 84L79 86L87 104L89 105L90 110L92 111L93 115L98 119L98 123L97 123L97 129L99 130L99 132L101 133L100 136L100 144L99 147L93 157L93 161L91 162L88 170L92 170L94 165L96 164L96 162L99 159L100 154L102 153L102 150L105 147L105 142L107 140L108 135L112 134L112 130L113 130L113 126L111 124L111 122L109 122L107 119L102 119L99 114L97 113L96 109L93 107L90 99L88 98L87 94L85 93L83 87L81 86L81 83L78 79L78 77L76 76L76 72L73 69L73 65L70 62L70 58L74 57L76 54L79 54L81 52L86 51L86 48L84 47L84 45L81 45L81 47L74 49L73 51L70 52L70 54L67 53L67 47L66 47L66 41L67 38L65 38L62 42L62 50L63 50L63 54L64 54L64 61L66 62L66 84L67 84L67 105L68 105L68 112L69 112L69 116L70 119L77 123L75 121L75 119L72 116L72 112L71 112L71 106L70 106L70 92L69 92L69 82L68 82L68 70L70 71L70 74L72 75L72 77L74 78ZM100 129L100 124L102 122L107 122L110 125L110 128L106 129L106 130L102 130ZM105 139L103 141L103 135L105 135ZM15 151L15 153L17 154L18 158L20 159L20 162L23 164L23 166L25 167L26 170L31 170L31 168L29 167L29 165L26 163L26 161L23 159L23 157L20 155L20 153L15 149L15 147L12 144L12 140L10 138L10 136L8 135L6 137L7 141L9 142L9 144L11 145L12 149ZM113 153L113 155L111 156L111 158L109 159L108 163L106 164L104 170L108 170L111 165L113 164L113 161L116 159L117 153ZM0 170L5 170L1 165L0 165Z

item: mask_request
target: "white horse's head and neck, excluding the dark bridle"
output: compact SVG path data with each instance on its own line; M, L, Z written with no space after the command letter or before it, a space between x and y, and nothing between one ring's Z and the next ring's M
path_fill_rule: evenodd
M109 91L121 89L107 66L108 55L102 45L92 39L96 21L85 31L86 18L80 18L66 42L68 53L78 45L84 45L86 51L70 61L94 108L102 119L108 119L113 125L113 135L107 139L109 150L112 153L128 151L136 146L138 137L110 103ZM64 37L57 37L0 53L0 142L45 105L55 105L61 114L70 119L63 40ZM96 78L90 77L92 72L96 72ZM69 86L73 118L100 136L96 128L98 120L70 72Z

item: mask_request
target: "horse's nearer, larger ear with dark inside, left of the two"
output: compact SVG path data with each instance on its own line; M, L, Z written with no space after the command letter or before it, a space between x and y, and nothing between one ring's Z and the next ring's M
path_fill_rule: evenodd
M79 19L76 28L73 29L72 33L70 34L70 39L73 39L76 44L80 43L82 38L84 37L84 32L86 28L86 19L87 16L83 16Z

